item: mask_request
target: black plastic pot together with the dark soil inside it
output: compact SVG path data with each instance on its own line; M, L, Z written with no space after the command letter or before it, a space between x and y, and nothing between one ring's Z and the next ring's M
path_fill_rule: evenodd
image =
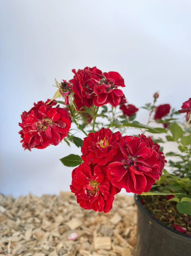
M145 201L145 199L146 201L148 200L148 205L150 205L149 207L146 206L147 202ZM176 211L174 211L174 208L168 208L167 211L165 210L165 207L167 207L167 202L166 199L163 198L163 196L162 198L160 196L157 196L156 199L155 196L150 197L135 195L135 202L137 204L138 213L136 256L191 256L191 236L175 231L172 228L166 226L164 222L162 223L157 220L156 217L155 219L152 217L152 215L154 214L156 216L156 213L158 216L160 216L159 210L161 210L162 215L157 218L161 220L163 219L163 221L165 221L167 225L171 225L172 223L173 226L173 220L175 219L173 214L175 214ZM142 204L144 204L144 206L141 204L141 202ZM154 204L153 207L151 207L152 202ZM163 202L163 204L161 204L161 202ZM169 207L172 207L173 204L174 202L171 202L169 204ZM176 204L174 205L176 210ZM144 207L148 207L149 211L152 210L152 208L153 211L155 209L157 209L157 211L154 211L154 214L153 211L150 211L149 213ZM190 216L185 216L183 214L183 216L181 217L183 220L183 218ZM178 216L176 216L176 218L178 218ZM182 225L187 224L188 223L184 223L183 221Z

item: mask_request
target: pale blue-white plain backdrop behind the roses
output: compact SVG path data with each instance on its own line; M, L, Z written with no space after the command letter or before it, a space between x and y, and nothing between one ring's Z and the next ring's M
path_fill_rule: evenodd
M24 151L18 122L73 68L119 72L138 107L159 90L159 103L180 108L191 97L190 13L190 0L0 0L0 192L69 191L72 168L58 159L75 148Z

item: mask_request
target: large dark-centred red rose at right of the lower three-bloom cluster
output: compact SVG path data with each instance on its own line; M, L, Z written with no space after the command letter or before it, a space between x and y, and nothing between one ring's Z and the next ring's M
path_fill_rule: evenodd
M108 177L112 184L126 192L141 194L151 189L159 179L165 160L153 147L151 138L144 135L124 136L120 139L121 153L109 163Z

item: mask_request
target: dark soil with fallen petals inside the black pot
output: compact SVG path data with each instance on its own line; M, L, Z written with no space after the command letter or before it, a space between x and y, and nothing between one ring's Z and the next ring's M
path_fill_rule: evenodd
M179 213L176 209L176 202L167 202L167 196L139 196L143 207L154 219L159 220L164 225L177 231L177 226L185 228L182 233L191 236L191 215Z

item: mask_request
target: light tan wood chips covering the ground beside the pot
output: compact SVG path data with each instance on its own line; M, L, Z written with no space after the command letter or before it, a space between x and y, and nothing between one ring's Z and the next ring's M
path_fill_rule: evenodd
M134 256L137 208L118 194L109 213L84 210L71 192L0 194L0 256Z

